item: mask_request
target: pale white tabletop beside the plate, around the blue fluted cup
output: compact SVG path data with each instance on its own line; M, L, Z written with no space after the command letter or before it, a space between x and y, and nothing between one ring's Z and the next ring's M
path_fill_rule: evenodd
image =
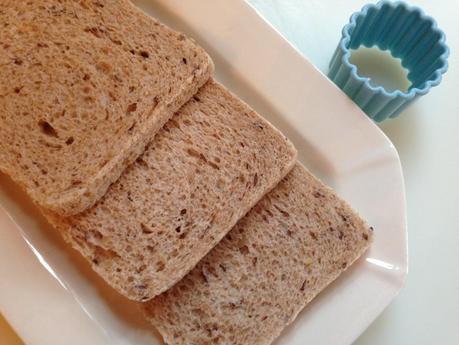
M249 2L324 73L341 28L367 3ZM445 31L450 67L440 86L381 124L404 170L410 267L405 288L355 345L459 344L459 0L411 4Z

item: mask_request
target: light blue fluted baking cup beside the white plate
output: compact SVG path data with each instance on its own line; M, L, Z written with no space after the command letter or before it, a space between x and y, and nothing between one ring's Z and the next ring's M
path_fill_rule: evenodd
M389 50L408 69L408 91L388 92L370 85L350 63L350 49L377 46ZM404 2L380 1L354 13L330 62L328 77L374 121L396 117L411 102L440 84L448 69L445 34L420 8Z

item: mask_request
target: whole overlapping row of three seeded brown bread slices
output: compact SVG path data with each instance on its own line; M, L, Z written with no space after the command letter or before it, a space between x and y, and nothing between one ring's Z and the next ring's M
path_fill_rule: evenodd
M0 20L0 170L167 344L270 344L369 246L208 54L128 0Z

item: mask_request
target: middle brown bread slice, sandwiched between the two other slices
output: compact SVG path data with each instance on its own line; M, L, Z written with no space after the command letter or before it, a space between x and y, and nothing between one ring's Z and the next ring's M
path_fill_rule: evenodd
M109 284L145 301L188 273L295 158L278 130L211 80L93 208L48 218Z

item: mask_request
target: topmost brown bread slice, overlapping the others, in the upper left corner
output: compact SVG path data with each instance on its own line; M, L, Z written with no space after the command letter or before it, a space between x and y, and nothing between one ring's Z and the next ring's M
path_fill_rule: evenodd
M0 170L59 214L93 205L213 71L127 0L6 0L0 23Z

